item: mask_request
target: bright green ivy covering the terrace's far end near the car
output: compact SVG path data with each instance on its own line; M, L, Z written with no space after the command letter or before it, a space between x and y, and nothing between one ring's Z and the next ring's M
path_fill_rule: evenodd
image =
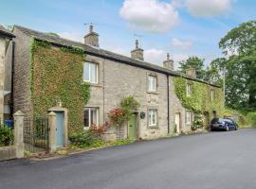
M191 84L192 94L187 96L186 86ZM188 80L184 77L174 77L175 94L184 108L197 113L215 111L217 116L224 113L224 99L221 88L212 87L208 84ZM211 100L210 90L214 90L214 99Z

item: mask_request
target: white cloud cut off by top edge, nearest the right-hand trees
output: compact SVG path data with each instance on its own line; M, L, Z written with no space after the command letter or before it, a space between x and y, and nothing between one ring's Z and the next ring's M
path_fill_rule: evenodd
M210 17L225 13L233 0L185 0L189 12L198 17Z

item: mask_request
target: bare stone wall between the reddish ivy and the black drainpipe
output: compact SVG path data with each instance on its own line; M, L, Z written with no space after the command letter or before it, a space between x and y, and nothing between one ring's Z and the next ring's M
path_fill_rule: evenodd
M121 99L126 95L133 95L140 103L138 112L145 112L146 117L137 116L138 138L156 138L167 135L167 77L166 75L137 68L112 60L87 56L86 60L99 63L99 84L92 85L91 98L87 107L100 108L101 123L108 119L107 113L119 107ZM147 76L155 74L157 77L157 92L147 92ZM158 112L156 129L148 128L148 109L155 108ZM108 132L108 138L115 139L119 129ZM127 125L122 129L122 136L127 137Z

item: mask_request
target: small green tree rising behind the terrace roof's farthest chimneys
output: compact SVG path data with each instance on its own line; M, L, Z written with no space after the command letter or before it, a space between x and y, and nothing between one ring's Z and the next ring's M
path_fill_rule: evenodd
M186 70L190 67L195 68L196 70L196 77L200 79L207 79L207 72L204 70L204 61L200 60L196 56L192 56L187 60L179 61L179 69L182 73L186 74Z

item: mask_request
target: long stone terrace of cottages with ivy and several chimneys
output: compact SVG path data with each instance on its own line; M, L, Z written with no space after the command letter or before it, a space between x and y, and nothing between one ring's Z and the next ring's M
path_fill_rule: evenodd
M132 95L140 106L120 132L122 138L136 139L191 130L196 122L207 128L212 117L222 115L219 86L196 78L192 68L186 75L174 71L169 54L163 66L144 61L137 41L129 58L101 49L93 26L84 43L23 26L14 26L13 34L14 112L36 117L62 104L68 130L74 132L103 124L108 112ZM106 140L118 136L115 128L105 135Z

